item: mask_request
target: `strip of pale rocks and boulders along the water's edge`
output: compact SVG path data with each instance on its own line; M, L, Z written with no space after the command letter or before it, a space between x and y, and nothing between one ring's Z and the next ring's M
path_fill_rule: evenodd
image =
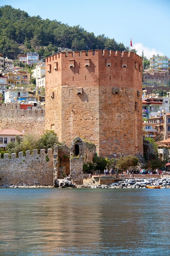
M150 178L132 178L114 182L110 185L93 185L93 184L82 184L75 185L69 177L64 179L58 179L55 186L43 186L43 185L4 185L1 188L91 188L91 189L145 189L147 185L161 186L164 189L170 189L170 177L162 177L161 179Z

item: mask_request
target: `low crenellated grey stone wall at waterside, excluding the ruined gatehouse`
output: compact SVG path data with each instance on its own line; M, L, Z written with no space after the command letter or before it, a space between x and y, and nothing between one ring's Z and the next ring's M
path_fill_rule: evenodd
M49 161L46 161L46 157ZM37 150L26 151L26 156L20 152L18 158L16 154L4 154L4 159L0 159L0 186L4 185L44 185L53 186L53 154L52 149L41 149L40 154Z

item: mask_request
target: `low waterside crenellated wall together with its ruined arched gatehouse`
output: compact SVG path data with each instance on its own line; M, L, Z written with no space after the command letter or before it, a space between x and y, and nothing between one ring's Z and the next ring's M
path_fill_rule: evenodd
M83 163L92 162L96 153L96 146L76 137L71 147L54 145L54 152L49 148L34 149L18 154L0 154L0 186L57 186L57 180L71 176L75 184L83 183Z

